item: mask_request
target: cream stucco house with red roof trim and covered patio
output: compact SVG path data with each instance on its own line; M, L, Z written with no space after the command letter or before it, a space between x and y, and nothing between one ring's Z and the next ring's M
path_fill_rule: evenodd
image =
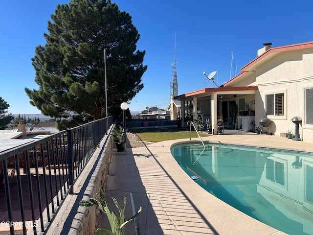
M242 116L232 123L239 122L242 129L246 119L257 126L261 118L267 117L271 120L268 133L280 135L289 129L295 134L291 119L300 117L300 137L313 142L313 42L264 45L257 58L221 87L176 96L181 101L182 123L196 117L200 110L203 119L212 121L213 133L217 134L217 114L221 113L227 122L231 107L237 104Z

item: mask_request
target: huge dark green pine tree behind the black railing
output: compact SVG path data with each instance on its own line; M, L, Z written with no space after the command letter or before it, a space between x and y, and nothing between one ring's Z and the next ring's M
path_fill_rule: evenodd
M60 128L105 117L105 49L108 115L120 114L120 104L143 88L147 70L130 14L111 0L71 0L57 5L51 19L46 44L32 58L39 90L25 88L30 103L46 116L71 117Z

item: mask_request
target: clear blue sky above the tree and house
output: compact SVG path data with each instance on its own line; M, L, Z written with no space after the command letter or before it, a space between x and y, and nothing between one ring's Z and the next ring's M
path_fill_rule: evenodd
M38 89L31 58L45 45L47 21L58 3L69 0L16 0L0 8L0 96L12 114L40 114L24 88ZM203 71L218 71L219 85L272 47L313 41L313 1L261 0L112 0L130 13L145 50L144 88L131 101L132 112L170 102L176 34L178 94L214 87ZM303 2L303 3L302 3ZM232 59L232 55L234 56ZM231 66L232 65L232 66ZM232 71L230 68L232 67Z

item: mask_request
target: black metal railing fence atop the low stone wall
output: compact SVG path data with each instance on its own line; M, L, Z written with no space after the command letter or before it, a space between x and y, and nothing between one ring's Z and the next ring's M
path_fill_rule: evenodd
M1 229L45 232L113 121L103 118L0 153Z

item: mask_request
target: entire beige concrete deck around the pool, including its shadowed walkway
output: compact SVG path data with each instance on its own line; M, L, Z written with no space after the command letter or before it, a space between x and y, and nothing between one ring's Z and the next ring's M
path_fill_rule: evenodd
M270 135L214 135L202 140L313 152L312 143ZM125 155L113 152L106 195L118 201L127 197L127 213L131 213L131 205L136 211L142 207L135 223L140 235L284 234L230 207L187 176L170 152L173 144L182 141L190 140L162 141L129 148ZM102 223L106 223L105 218ZM125 235L136 234L133 222L126 226Z

